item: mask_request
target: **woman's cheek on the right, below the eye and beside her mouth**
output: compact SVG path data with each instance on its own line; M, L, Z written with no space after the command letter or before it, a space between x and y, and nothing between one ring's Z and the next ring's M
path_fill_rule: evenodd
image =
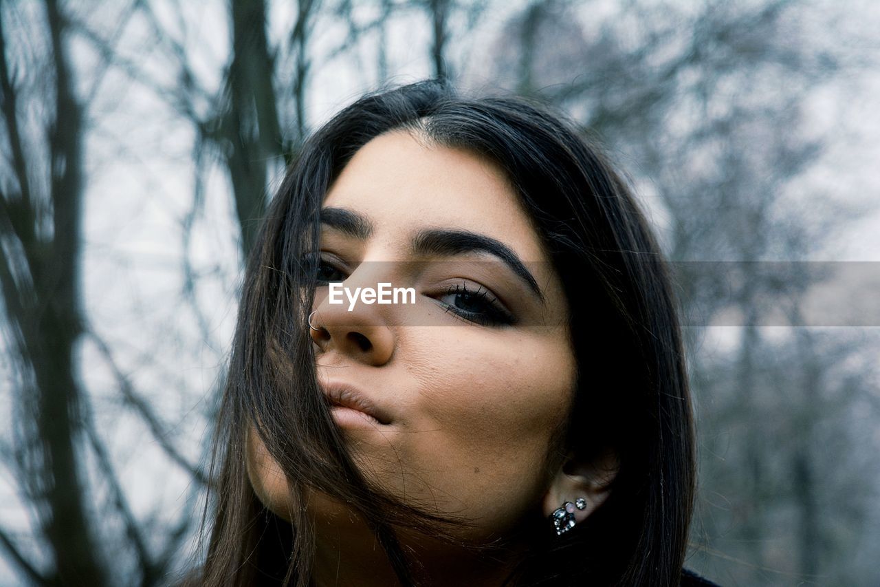
M546 488L546 451L568 412L575 361L564 337L440 330L408 356L419 433L407 436L406 458L468 516L504 527Z

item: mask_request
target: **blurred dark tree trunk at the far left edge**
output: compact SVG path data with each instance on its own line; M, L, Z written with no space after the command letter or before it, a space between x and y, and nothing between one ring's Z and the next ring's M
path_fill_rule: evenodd
M12 10L3 9L6 15ZM16 474L28 481L27 497L37 505L40 531L55 568L38 569L8 536L3 545L19 570L34 582L102 585L106 576L87 513L83 390L74 359L84 322L78 291L82 110L73 89L65 21L55 0L45 3L45 25L45 61L31 65L48 70L55 103L47 104L42 128L36 133L28 129L28 133L21 128L26 118L18 101L25 73L20 63L25 56L16 55L0 24L0 86L12 152L12 177L4 180L0 197L4 245L0 282L20 383L15 394L19 416L15 458L7 465L15 466ZM46 137L48 160L28 148L26 134ZM31 182L31 178L40 179Z

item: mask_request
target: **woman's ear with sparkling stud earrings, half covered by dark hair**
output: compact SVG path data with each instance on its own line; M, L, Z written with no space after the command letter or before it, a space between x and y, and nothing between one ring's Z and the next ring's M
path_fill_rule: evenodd
M550 487L544 495L544 515L550 516L565 502L574 503L578 498L583 497L587 507L574 511L576 523L583 522L605 502L611 493L611 484L619 469L617 455L611 450L606 450L589 462L569 454L566 462L551 479Z

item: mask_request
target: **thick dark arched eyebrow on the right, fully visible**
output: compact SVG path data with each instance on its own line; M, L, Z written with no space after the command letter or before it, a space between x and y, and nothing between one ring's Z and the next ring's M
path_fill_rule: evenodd
M501 241L496 241L485 234L442 228L422 230L413 239L413 252L415 255L451 256L473 251L483 251L497 256L525 282L525 285L529 286L541 302L545 301L544 294L541 293L538 282L532 277L532 273L525 268L517 254Z

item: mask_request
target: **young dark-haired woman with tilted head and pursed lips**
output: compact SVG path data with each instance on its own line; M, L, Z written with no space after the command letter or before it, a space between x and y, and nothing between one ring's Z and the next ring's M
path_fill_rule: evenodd
M656 242L597 148L524 100L407 85L304 145L216 442L203 584L698 581Z

